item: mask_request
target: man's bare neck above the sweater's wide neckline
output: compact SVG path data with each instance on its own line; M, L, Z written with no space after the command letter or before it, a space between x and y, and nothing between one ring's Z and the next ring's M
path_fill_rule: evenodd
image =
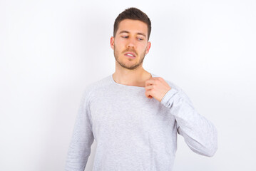
M116 67L116 71L113 73L113 80L126 86L145 87L145 81L149 78L151 78L151 74L142 67L135 70Z

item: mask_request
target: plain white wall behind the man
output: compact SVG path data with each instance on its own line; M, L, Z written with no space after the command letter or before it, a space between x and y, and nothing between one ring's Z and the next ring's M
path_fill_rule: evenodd
M0 1L0 170L63 170L84 88L115 71L113 23L152 22L145 70L218 130L214 157L178 136L174 170L256 170L255 1ZM91 170L96 142L86 170Z

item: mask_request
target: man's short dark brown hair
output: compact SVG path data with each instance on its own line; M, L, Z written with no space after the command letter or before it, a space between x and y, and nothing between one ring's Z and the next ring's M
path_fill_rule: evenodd
M148 25L148 40L151 32L151 21L148 18L147 14L143 13L143 11L140 11L139 9L136 9L134 7L130 7L123 11L121 14L118 15L116 18L115 24L114 24L114 31L113 36L116 37L116 31L118 31L118 26L121 21L124 19L133 19L133 20L139 20L143 21L145 24Z

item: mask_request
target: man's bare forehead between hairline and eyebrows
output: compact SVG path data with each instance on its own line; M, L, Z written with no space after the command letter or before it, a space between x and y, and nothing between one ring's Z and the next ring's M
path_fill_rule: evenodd
M148 33L148 26L143 21L124 19L119 23L118 33L121 31L129 31L130 33Z

